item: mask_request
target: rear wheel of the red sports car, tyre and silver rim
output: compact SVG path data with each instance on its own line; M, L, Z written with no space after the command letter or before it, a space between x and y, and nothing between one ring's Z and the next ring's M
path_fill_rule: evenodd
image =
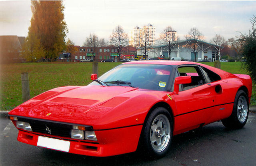
M243 90L239 90L236 93L234 107L230 117L223 119L222 124L230 129L241 129L246 124L248 119L249 102L246 93Z

